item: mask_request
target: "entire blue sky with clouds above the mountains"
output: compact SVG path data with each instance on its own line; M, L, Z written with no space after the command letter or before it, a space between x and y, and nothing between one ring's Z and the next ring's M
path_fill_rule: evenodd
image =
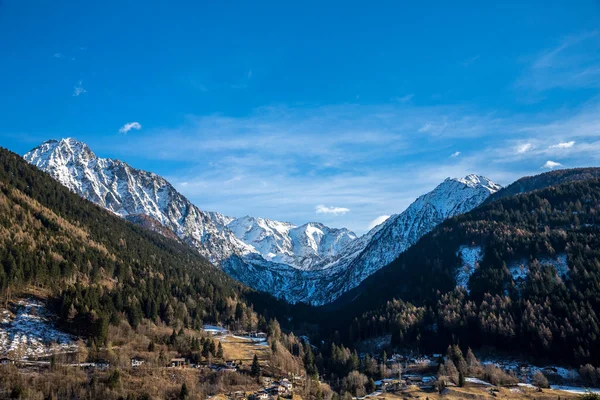
M75 137L203 209L362 233L448 176L600 165L599 21L584 0L0 0L0 145Z

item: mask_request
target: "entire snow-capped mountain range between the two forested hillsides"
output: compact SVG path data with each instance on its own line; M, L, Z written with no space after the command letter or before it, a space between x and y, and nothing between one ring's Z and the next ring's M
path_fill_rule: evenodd
M448 178L357 237L319 222L295 226L200 210L164 178L99 158L72 138L46 141L24 158L83 198L163 235L174 233L235 279L290 303L313 305L334 301L435 226L501 189L478 175Z

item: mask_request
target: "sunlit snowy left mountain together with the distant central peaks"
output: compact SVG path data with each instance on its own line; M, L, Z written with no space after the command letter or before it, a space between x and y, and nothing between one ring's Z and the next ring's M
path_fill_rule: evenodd
M202 211L164 178L119 160L98 158L85 143L73 138L44 142L24 158L117 215L153 218L216 264L233 255L252 253L304 269L356 238L346 229L319 223L296 227L265 218L236 219Z

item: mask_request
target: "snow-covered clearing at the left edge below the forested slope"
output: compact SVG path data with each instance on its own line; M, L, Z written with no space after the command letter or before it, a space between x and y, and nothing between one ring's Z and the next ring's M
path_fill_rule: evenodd
M0 310L0 355L26 359L77 350L76 339L57 330L44 305L21 300L15 314Z

